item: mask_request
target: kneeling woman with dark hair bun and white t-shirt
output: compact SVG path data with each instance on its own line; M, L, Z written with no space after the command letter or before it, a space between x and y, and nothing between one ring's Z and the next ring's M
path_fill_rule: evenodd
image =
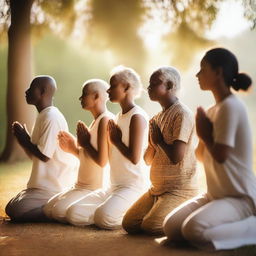
M231 90L246 91L252 81L238 72L236 57L223 48L205 54L196 76L216 101L196 114L196 156L204 164L207 193L173 210L164 221L165 234L203 249L256 244L252 135L245 106Z

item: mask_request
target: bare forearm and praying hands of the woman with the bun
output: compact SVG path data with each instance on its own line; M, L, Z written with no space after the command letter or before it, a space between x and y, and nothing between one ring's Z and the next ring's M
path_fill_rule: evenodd
M197 109L196 131L198 137L204 142L212 157L217 162L224 163L230 154L231 147L214 142L213 126L203 108Z

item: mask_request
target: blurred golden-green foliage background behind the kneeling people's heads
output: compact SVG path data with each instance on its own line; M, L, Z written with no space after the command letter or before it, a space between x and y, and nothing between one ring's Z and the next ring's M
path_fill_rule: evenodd
M244 15L253 28L255 2L237 1L242 3ZM78 101L83 82L91 78L108 81L111 69L119 64L137 70L145 88L154 68L174 65L182 73L181 99L193 110L197 105L208 106L212 97L199 90L195 73L209 47L229 48L237 55L242 69L256 80L255 30L248 28L233 38L212 40L206 36L222 2L225 1L34 0L30 17L33 75L48 74L56 79L55 105L66 116L73 133L77 120L92 120ZM6 131L8 4L9 1L0 0L0 150ZM246 101L255 130L255 91L246 98L240 97ZM150 115L160 109L149 102L146 93L138 103ZM108 106L114 113L119 111L117 105Z

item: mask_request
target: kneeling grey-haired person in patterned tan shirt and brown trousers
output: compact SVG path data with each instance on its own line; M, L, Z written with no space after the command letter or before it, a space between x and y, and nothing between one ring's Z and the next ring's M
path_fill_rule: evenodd
M127 211L123 228L131 234L163 234L166 215L197 194L193 149L194 118L177 98L179 72L162 67L150 77L148 94L162 111L150 121L149 145L144 160L151 165L151 188Z

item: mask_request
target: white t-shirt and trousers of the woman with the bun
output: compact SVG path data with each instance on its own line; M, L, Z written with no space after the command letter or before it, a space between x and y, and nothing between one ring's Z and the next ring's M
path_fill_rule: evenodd
M256 179L252 172L252 138L244 105L234 95L207 112L214 141L231 148L218 163L204 148L207 195L172 211L164 221L169 239L183 237L198 247L232 249L256 244Z

